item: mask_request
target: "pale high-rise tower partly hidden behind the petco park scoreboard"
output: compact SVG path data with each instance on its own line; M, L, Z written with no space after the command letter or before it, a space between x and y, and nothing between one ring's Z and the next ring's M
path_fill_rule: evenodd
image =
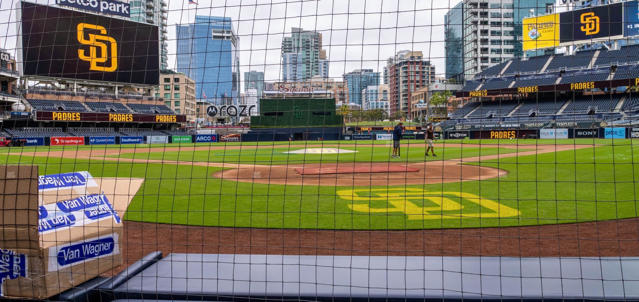
M160 70L168 69L167 54L168 33L166 28L167 3L165 0L129 0L130 19L137 22L157 25L160 27Z

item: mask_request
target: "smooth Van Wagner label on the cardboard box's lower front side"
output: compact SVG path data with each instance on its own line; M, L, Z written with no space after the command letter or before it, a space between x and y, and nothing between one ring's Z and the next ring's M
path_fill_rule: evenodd
M108 234L82 242L65 243L49 250L49 271L58 271L90 260L117 255L118 233Z

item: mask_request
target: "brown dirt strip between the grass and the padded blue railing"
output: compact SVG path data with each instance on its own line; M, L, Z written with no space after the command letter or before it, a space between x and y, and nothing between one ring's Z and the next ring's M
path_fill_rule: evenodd
M124 222L125 265L150 252L639 257L639 220L443 230L281 230ZM109 273L109 274L111 274ZM109 275L107 274L107 275Z

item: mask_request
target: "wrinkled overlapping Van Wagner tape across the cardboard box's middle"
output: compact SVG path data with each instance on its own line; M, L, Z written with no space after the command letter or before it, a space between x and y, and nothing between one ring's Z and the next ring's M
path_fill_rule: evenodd
M75 199L45 204L38 208L38 232L46 234L104 219L122 222L118 212L104 194L86 195Z

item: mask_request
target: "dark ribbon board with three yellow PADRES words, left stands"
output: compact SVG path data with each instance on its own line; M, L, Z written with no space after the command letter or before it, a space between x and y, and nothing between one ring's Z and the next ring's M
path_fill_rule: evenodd
M36 111L36 121L81 122L133 122L133 123L186 123L187 116L180 114L137 114L106 112Z

